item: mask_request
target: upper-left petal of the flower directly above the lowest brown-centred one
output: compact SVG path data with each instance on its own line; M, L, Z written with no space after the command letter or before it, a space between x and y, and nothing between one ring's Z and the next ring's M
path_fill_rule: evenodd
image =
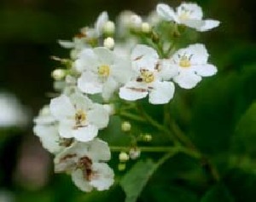
M67 95L61 95L52 99L49 103L49 110L59 120L72 116L75 113L74 107Z

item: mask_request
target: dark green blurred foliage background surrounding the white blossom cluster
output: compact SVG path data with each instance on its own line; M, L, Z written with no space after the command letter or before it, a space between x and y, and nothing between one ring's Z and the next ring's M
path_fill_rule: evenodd
M176 5L180 1L164 2ZM218 170L220 180L215 182L211 178L203 162L178 153L147 179L147 185L144 179L129 182L135 189L131 192L140 192L145 186L137 200L142 202L253 202L256 190L255 1L196 2L201 4L206 16L222 22L218 29L199 38L207 44L210 60L219 72L189 92L177 89L172 116L196 147L207 155ZM71 38L79 27L90 25L102 10L108 10L111 17L123 9L147 14L156 3L156 0L2 0L0 89L18 95L37 114L38 108L48 102L45 93L52 91L49 75L55 62L49 60L49 55L67 56L56 43L57 39ZM155 118L161 118L160 107L146 107ZM104 131L108 135L102 138L111 144L125 145L128 137L121 132L120 123L119 118L113 117L109 129ZM152 131L147 125L145 130ZM16 201L125 201L125 193L117 184L108 192L81 193L69 177L53 175L52 170L43 188L32 191L17 184L13 176L18 154L21 143L30 136L31 128L0 130L0 190L12 192ZM157 136L154 135L153 143L162 142ZM160 159L160 154L151 156ZM147 159L148 154L142 158ZM111 165L119 179L135 162L127 164L123 172L117 170L117 164L118 157L113 153ZM150 168L142 172L146 175Z

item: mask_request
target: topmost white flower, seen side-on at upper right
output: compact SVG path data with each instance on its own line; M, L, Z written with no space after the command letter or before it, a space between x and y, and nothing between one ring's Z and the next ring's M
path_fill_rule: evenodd
M175 21L199 32L208 31L219 25L218 20L202 20L202 9L196 3L181 3L176 12L167 4L159 3L156 11L163 20Z

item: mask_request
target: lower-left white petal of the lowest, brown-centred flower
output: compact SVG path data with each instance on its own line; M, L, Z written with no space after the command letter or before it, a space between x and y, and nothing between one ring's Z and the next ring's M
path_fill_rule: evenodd
M83 192L92 191L93 187L84 179L83 170L74 170L71 174L73 183Z

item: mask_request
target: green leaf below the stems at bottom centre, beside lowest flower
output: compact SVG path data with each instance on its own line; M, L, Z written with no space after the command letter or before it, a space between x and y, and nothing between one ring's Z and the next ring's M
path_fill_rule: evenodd
M154 164L151 159L141 160L123 177L120 185L126 193L125 202L137 201L150 176L153 175L156 166L157 164Z

